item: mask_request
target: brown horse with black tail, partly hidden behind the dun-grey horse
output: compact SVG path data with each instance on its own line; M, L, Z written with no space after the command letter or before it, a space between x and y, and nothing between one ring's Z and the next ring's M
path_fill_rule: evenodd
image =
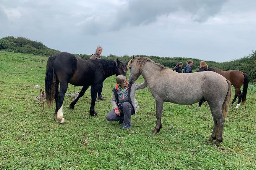
M243 73L242 71L239 71L239 70L223 71L218 68L211 68L211 67L209 67L208 70L214 71L224 76L226 79L228 79L231 82L231 86L233 85L235 87L235 97L231 102L232 105L235 103L235 100L237 99L237 97L238 97L238 102L237 102L236 108L240 106L241 100L242 100L242 105L245 103L248 83L249 83L249 78L246 73ZM242 85L243 85L243 94L241 93Z

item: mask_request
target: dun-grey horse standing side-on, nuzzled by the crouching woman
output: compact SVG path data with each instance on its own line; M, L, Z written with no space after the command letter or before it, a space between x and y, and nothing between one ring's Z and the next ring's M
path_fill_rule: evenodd
M209 142L222 142L224 122L231 98L230 81L212 71L180 74L157 64L147 57L132 57L129 83L134 83L140 75L146 81L156 101L156 127L153 134L162 128L164 102L189 105L206 100L210 106L214 127Z

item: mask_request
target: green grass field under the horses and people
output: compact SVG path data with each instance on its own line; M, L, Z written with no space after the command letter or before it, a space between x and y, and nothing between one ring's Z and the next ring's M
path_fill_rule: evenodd
M216 147L206 142L213 127L207 103L202 110L197 103L191 108L164 103L162 129L152 135L156 106L148 87L137 91L140 109L132 116L132 129L108 122L115 76L104 81L107 100L96 102L98 116L89 115L87 90L74 110L69 109L73 99L65 96L65 124L59 124L55 106L36 98L44 90L47 58L0 51L0 170L256 169L255 85L249 84L245 105L230 106L223 143ZM66 94L80 89L70 84Z

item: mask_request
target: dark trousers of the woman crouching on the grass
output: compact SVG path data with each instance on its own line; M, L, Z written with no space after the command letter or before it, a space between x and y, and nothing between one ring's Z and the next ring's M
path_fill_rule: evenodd
M119 107L118 107L119 108ZM120 121L123 120L125 124L131 124L131 115L134 114L133 106L129 102L124 102L122 108L119 108L120 116L115 114L115 110L111 110L107 114L107 121Z

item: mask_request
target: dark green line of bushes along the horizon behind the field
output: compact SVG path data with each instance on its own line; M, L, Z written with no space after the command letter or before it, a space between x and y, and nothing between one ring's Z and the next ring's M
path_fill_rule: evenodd
M36 55L46 55L52 56L60 51L48 48L42 42L33 41L23 37L13 37L7 36L0 38L0 50L2 51L11 51L19 52L25 54L36 54ZM88 54L74 54L75 56L81 59L89 59L91 55ZM178 62L183 62L183 68L186 65L187 60L193 60L194 65L192 66L193 70L197 70L200 59L190 58L190 57L158 57L158 56L145 56L145 55L136 55L136 57L148 57L154 62L160 63L165 67L174 68ZM115 56L109 54L108 56L102 56L102 59L112 59L115 60L118 57L119 60L128 62L132 56ZM256 50L248 56L244 56L241 59L232 60L229 62L215 62L207 61L209 67L219 68L221 70L240 70L244 73L247 73L250 81L256 81Z

